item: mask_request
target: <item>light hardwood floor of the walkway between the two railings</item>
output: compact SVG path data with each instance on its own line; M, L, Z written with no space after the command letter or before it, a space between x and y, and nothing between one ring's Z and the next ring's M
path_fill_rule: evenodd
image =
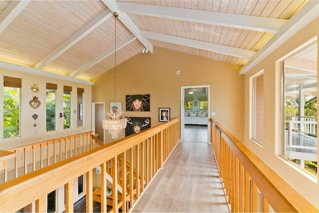
M179 142L131 212L229 213L211 145Z

